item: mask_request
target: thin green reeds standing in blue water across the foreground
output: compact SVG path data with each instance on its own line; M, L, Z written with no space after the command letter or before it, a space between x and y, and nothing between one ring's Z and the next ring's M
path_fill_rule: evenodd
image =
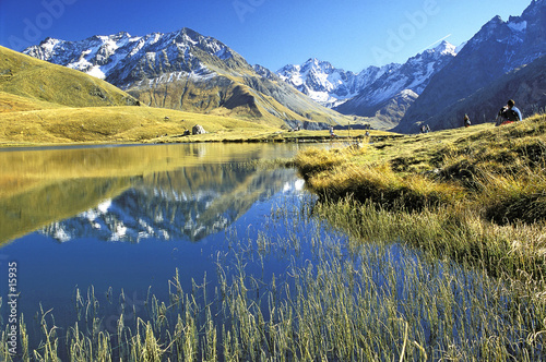
M227 248L211 255L215 276L203 275L195 281L194 276L174 270L168 299L149 293L141 313L131 311L123 291L116 299L111 290L105 294L95 293L93 287L75 289L78 318L71 326L57 325L55 311L43 307L28 328L39 330L39 336L28 336L28 321L21 318L19 355L9 354L8 330L2 328L0 359L546 358L542 323L546 311L531 286L513 288L480 268L429 257L392 239L392 230L371 234L370 229L360 229L381 240L363 243L361 236L347 237L313 217L325 210L321 207L312 198L296 207L281 205L272 209L266 232L232 230L226 233ZM121 311L114 329L105 327L110 304L119 304ZM28 339L37 342L24 342Z

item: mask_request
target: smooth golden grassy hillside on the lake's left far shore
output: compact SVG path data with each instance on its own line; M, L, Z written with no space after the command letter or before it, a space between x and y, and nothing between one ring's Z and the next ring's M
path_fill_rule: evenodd
M218 140L277 131L138 104L109 83L0 47L0 145L149 142L179 136L195 124Z

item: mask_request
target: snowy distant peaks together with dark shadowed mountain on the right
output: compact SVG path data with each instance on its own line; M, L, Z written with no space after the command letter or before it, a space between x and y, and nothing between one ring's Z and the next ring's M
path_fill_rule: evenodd
M532 112L544 106L541 99L545 88L539 81L544 73L536 65L527 68L524 76L514 73L546 53L545 8L545 0L533 0L521 16L507 22L496 16L462 46L442 41L404 64L353 73L309 59L276 73L327 107L344 114L380 119L402 133L417 132L424 123L432 130L460 126L465 113L478 123L491 121L510 98ZM511 88L520 92L496 88L506 88L508 80ZM477 93L480 89L487 92ZM491 94L499 96L491 98ZM482 105L480 99L489 106Z

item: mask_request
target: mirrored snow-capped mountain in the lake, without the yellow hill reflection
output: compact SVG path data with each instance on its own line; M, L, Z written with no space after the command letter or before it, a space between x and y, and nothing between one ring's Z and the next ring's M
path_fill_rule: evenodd
M244 165L203 165L157 172L117 197L75 217L54 222L43 233L60 241L92 237L106 241L142 239L200 241L229 227L257 202L300 188L293 170Z

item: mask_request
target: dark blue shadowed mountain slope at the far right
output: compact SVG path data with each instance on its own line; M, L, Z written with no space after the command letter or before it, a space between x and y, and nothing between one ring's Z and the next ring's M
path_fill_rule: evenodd
M448 67L432 76L428 86L394 130L412 133L423 123L429 124L432 130L460 126L464 112L458 114L459 122L455 123L440 114L455 114L450 110L463 102L478 106L482 99L472 98L476 95L483 97L480 89L488 88L487 95L502 90L494 89L491 86L495 84L508 86L506 81L502 81L509 77L507 73L531 64L544 55L546 55L546 0L533 0L521 16L510 16L506 22L499 16L491 19L467 41ZM536 70L534 74L530 74L532 69ZM527 69L525 77L544 79L544 68ZM518 76L512 82L519 82ZM501 98L494 100L495 107L487 109L487 113L483 113L485 109L479 111L471 107L465 108L465 112L474 113L475 123L482 123L492 121L500 107L510 98L514 98L517 106L523 109L544 107L544 104L539 102L522 102L524 99L519 99L520 94L514 92L518 86L513 88L512 92L500 92ZM545 92L544 87L534 88L534 96L527 96L526 99L539 97Z

